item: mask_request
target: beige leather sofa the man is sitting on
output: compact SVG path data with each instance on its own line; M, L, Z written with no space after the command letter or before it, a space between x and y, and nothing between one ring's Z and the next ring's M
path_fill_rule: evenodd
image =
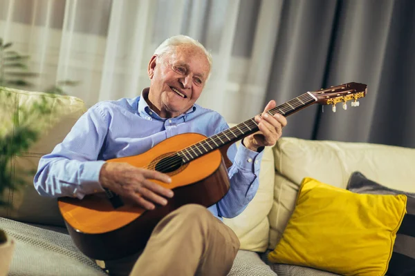
M33 172L39 158L62 141L77 118L86 110L75 97L51 96L37 92L0 89L10 92L12 108L2 110L11 118L18 106L30 106L46 97L52 115L37 120L44 135L28 152L12 160L12 172L24 177L27 185L19 192L6 192L3 199L13 208L0 210L0 228L15 239L10 275L104 275L102 270L71 242L55 199L40 197L33 188ZM35 124L35 123L33 123ZM16 125L11 124L12 128ZM313 177L345 188L351 172L391 188L415 193L415 150L375 144L307 141L284 137L266 148L261 164L260 186L248 208L234 219L225 219L241 241L241 250L229 275L334 275L302 266L271 264L267 253L282 237L295 206L299 184Z

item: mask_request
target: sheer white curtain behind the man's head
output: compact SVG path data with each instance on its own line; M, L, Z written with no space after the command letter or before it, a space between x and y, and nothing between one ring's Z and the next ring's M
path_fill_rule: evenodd
M30 55L30 90L59 81L87 106L136 97L167 37L187 34L213 56L198 103L240 122L264 108L283 0L0 0L0 37Z

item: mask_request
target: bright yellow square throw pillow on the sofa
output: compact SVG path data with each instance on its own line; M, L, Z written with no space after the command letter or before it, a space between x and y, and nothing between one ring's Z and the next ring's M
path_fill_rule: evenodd
M341 275L385 275L405 195L363 195L306 177L270 262Z

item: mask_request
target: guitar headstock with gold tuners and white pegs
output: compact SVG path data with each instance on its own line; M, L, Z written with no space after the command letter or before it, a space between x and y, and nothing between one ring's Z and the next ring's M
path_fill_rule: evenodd
M366 84L349 82L341 86L331 86L331 88L311 92L311 94L317 99L317 103L333 105L333 112L335 112L336 103L343 103L344 109L347 109L347 101L352 101L351 106L359 106L358 99L365 97L366 92Z

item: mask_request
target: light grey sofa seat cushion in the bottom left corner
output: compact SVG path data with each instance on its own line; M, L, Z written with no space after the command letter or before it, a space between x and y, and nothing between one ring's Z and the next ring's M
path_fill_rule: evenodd
M83 255L69 235L0 217L0 228L15 240L9 275L107 275Z

